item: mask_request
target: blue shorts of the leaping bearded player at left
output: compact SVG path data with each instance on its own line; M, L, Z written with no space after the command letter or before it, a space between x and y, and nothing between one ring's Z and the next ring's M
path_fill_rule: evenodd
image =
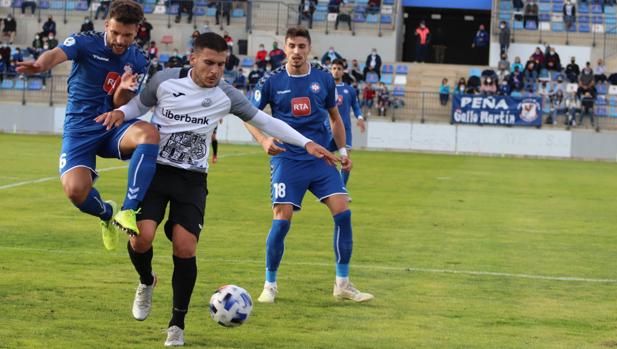
M65 134L60 151L60 177L76 167L86 167L92 171L92 179L96 179L97 155L102 158L130 159L130 155L122 156L120 153L120 141L128 128L137 121L139 119L130 120L120 127L98 133Z

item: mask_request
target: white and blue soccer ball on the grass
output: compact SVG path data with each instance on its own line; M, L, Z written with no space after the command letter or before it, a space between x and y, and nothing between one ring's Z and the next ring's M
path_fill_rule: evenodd
M210 298L210 316L221 326L242 325L248 320L252 309L251 295L240 286L221 286Z

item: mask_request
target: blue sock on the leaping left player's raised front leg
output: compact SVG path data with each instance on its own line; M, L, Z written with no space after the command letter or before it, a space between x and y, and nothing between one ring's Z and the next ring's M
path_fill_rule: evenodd
M136 210L144 199L156 172L158 152L158 144L140 144L135 148L129 163L128 189L122 204L123 210Z

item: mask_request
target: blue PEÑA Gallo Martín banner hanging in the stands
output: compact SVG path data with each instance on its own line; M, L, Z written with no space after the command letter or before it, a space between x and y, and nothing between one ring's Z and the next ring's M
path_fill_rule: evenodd
M542 126L540 97L454 95L452 123Z

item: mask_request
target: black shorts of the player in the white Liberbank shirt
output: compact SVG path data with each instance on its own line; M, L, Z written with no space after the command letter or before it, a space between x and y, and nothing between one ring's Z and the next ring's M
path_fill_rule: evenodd
M180 224L199 240L206 211L207 178L205 173L157 164L137 220L149 219L161 224L169 203L169 217L165 223L167 238L171 240L173 226Z

